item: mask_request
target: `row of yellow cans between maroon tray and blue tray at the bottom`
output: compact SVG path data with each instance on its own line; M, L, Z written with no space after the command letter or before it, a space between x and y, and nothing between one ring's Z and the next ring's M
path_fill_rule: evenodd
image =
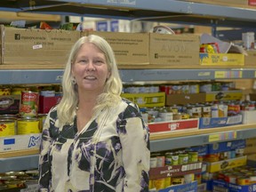
M194 180L197 180L195 174L190 173L190 174L186 174L179 177L165 177L165 178L156 179L156 180L149 180L148 187L151 190L152 189L159 190L163 188L168 188L173 185L182 185L182 184L191 183Z

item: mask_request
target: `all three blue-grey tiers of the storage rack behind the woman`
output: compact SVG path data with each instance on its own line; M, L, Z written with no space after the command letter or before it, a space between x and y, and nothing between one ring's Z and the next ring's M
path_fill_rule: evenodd
M109 17L127 20L148 20L163 22L184 22L208 26L229 26L253 28L256 23L256 9L199 4L187 1L162 0L35 0L8 1L0 3L0 11L37 12L60 15ZM255 78L256 68L120 68L122 80L131 82L212 80ZM62 69L8 69L0 66L0 84L60 84ZM221 76L218 76L221 73ZM238 75L237 75L238 74ZM211 135L236 133L236 138L246 139L256 135L256 125L236 125L232 127L198 130L196 132L151 134L152 152L172 148L209 143ZM228 140L228 139L227 139ZM0 157L0 172L37 168L38 155Z

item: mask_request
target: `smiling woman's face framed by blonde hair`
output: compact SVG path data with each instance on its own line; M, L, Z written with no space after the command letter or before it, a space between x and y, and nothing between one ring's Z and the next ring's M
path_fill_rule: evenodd
M104 53L92 43L83 44L72 65L78 90L102 92L109 74Z

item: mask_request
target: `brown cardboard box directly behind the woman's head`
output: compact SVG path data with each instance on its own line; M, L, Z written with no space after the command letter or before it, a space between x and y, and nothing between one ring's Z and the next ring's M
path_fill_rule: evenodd
M81 36L102 36L111 45L117 65L148 65L148 33L86 31Z

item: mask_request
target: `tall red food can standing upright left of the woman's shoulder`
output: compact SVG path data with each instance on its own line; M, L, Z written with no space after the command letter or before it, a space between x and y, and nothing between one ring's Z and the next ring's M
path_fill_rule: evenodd
M20 116L35 117L38 115L39 93L21 92Z

